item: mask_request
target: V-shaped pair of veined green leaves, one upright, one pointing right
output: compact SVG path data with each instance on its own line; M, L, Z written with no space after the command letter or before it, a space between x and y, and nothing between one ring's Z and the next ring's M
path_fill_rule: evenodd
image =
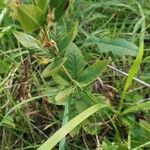
M95 80L110 62L109 60L97 60L85 69L84 57L79 48L73 43L69 45L65 56L67 60L64 66L69 74L74 80L85 86Z

